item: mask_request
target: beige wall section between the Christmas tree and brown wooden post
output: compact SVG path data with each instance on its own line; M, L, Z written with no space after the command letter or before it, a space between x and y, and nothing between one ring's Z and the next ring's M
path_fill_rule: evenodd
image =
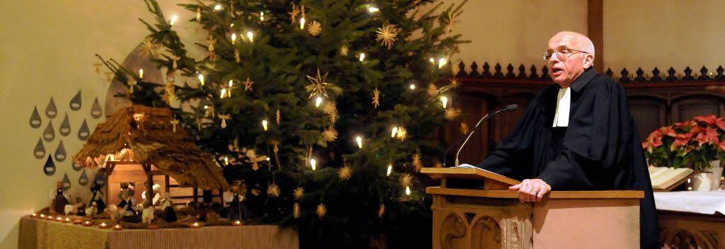
M463 33L463 39L471 43L461 45L461 53L452 61L457 63L457 59L462 59L467 70L475 61L479 72L484 62L489 62L492 68L496 63L502 67L511 63L515 68L524 64L528 73L532 64L538 69L544 65L542 54L547 42L561 30L587 33L587 1L469 0L454 32Z

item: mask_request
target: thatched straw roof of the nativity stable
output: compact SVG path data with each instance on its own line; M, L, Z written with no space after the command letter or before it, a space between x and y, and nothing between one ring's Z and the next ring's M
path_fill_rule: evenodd
M109 154L119 159L120 152L128 148L133 162L152 164L181 186L228 189L229 184L213 156L202 152L181 125L176 125L173 132L171 120L170 109L147 106L119 109L96 126L73 161L94 167L99 162L102 164Z

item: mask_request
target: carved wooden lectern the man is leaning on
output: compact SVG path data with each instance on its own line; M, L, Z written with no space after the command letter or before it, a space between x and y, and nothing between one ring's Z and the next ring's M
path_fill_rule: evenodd
M517 180L482 169L423 168L433 195L433 248L639 248L643 191L552 191L519 203ZM453 188L460 180L483 187Z

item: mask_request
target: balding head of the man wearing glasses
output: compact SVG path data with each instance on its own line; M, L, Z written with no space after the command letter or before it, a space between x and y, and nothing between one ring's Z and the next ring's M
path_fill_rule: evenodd
M594 43L580 33L556 33L549 40L548 51L551 54L547 61L551 77L562 88L568 88L584 70L594 65Z

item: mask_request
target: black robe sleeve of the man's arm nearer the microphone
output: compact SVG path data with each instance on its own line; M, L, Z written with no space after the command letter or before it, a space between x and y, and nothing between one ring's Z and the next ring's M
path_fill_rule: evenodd
M530 177L531 146L538 127L540 98L539 95L531 101L508 137L476 166L518 180Z

